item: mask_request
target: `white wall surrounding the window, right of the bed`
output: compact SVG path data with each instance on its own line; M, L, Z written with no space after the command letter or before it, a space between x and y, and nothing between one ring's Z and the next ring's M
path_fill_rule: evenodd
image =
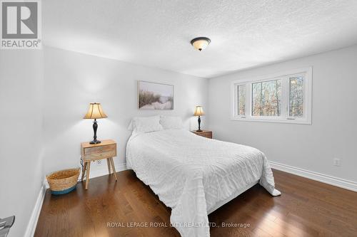
M231 81L313 66L312 125L230 120ZM261 149L269 160L357 181L357 46L211 78L209 127L216 138ZM341 167L333 158L341 158Z

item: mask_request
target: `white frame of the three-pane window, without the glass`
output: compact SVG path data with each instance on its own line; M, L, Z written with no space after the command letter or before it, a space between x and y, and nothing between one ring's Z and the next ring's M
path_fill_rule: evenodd
M289 117L289 78L303 75L303 117ZM281 116L252 116L252 84L270 80L281 80ZM246 115L238 115L238 86L246 85ZM298 68L281 73L262 75L255 78L234 80L231 83L231 120L250 122L282 122L311 125L312 113L312 67Z

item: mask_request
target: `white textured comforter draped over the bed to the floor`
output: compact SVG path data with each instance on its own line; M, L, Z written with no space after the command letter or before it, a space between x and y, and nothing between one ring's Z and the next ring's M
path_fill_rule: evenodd
M171 207L171 224L182 237L209 236L208 213L257 181L271 195L280 194L258 149L186 130L132 135L126 165Z

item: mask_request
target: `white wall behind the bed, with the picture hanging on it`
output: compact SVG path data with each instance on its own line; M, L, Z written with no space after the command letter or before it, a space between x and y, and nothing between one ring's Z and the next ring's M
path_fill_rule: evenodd
M138 110L137 80L174 85L174 110ZM115 139L118 143L114 161L119 169L125 163L131 117L177 115L187 129L193 129L197 126L192 116L194 107L206 107L208 92L207 79L49 47L44 53L44 81L46 173L79 167L80 143L93 138L92 121L82 119L89 102L101 102L108 115L98 120L97 135L98 139ZM106 169L105 162L93 165L91 174Z

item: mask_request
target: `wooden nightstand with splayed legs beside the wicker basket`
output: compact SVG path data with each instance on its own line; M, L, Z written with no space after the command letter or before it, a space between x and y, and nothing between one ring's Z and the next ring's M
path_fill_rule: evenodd
M116 142L114 140L102 140L99 144L81 143L81 161L83 162L81 180L83 181L84 174L86 173L86 189L88 189L89 184L91 162L98 159L106 159L109 174L111 174L111 169L113 169L115 180L117 180L113 157L116 157Z

